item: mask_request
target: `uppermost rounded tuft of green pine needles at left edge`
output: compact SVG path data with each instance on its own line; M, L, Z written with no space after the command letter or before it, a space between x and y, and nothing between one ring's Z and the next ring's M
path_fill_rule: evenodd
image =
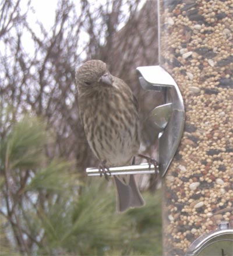
M1 143L1 159L8 169L32 168L43 162L48 136L45 124L35 117L16 122Z

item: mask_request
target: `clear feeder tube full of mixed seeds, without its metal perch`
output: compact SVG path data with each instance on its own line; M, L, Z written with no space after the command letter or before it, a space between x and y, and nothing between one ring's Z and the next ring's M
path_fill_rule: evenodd
M232 7L159 0L159 64L185 106L163 178L163 255L233 255Z

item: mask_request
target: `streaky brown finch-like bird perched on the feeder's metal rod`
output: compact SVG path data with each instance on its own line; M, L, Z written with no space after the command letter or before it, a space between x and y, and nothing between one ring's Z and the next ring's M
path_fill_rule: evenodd
M98 59L84 62L76 70L77 102L87 142L100 162L100 176L108 179L109 167L126 166L139 153L138 104L130 87L111 75ZM114 176L117 211L144 205L135 177Z

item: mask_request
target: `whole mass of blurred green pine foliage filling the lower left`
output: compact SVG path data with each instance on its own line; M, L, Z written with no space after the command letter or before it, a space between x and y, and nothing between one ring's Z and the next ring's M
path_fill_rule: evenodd
M2 255L161 255L160 193L117 213L112 180L83 184L74 163L48 157L52 143L29 116L1 138Z

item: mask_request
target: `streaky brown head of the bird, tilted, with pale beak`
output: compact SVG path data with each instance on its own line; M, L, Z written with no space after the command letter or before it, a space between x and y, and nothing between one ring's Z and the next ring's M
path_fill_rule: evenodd
M112 76L103 61L92 59L80 66L75 75L78 90L112 86Z

